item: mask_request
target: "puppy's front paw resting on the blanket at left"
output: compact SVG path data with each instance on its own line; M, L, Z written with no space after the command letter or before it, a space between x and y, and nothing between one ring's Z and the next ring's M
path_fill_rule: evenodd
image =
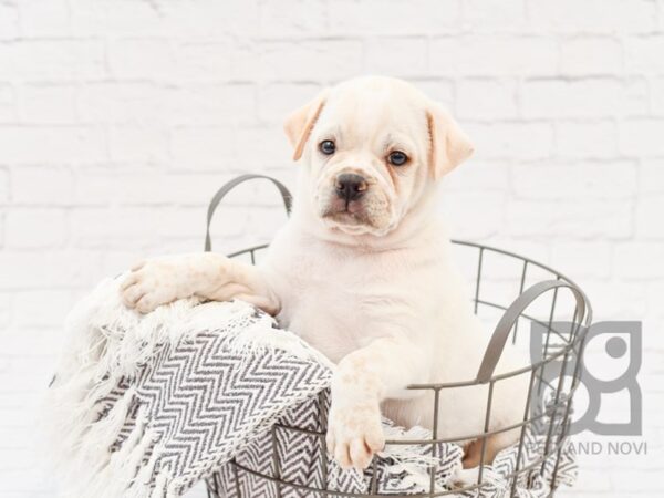
M123 302L141 313L149 313L160 304L185 297L179 270L179 264L168 258L134 266L121 286Z

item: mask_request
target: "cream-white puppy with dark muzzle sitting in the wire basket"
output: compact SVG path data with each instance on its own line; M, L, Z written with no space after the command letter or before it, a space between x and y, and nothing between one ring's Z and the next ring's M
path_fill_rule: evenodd
M284 128L302 165L292 216L262 263L152 259L133 268L123 298L143 313L190 295L237 298L276 315L338 364L328 448L343 467L363 469L385 444L381 407L404 426L433 427L433 392L406 386L470 381L479 369L489 334L435 216L440 178L473 145L440 105L387 77L323 91ZM502 370L513 366L504 359ZM523 381L496 384L490 429L520 422ZM443 390L439 406L439 438L481 433L487 385ZM484 461L517 434L489 437ZM459 443L465 466L477 466L481 445Z

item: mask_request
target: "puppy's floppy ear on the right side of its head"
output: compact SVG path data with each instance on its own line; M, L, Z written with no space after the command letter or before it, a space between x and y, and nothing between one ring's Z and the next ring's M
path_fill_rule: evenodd
M429 166L434 179L440 178L473 154L470 138L443 108L433 103L426 111L429 132Z

